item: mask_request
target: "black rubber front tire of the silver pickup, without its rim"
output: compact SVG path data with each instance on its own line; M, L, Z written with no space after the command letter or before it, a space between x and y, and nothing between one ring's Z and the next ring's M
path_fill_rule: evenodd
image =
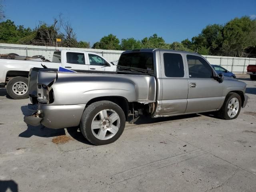
M237 112L236 116L230 118L230 117L228 116L228 104L229 104L229 102L230 102L230 100L231 100L232 98L237 98L237 99L238 99L238 101L239 101L239 108L238 108L238 112ZM227 96L226 96L226 98L225 98L225 101L224 101L224 103L223 103L223 105L222 105L222 107L221 107L221 109L220 109L219 112L218 112L218 116L219 116L220 118L224 119L224 120L232 120L232 119L235 119L235 118L237 118L237 116L238 116L239 113L240 113L241 106L242 106L242 100L241 100L240 95L238 95L237 93L233 93L233 92L228 93Z

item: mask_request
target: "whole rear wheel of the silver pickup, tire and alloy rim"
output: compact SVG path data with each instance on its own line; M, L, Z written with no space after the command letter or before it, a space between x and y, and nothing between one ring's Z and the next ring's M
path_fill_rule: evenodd
M124 111L110 101L90 104L82 115L80 130L94 145L105 145L116 141L124 131Z

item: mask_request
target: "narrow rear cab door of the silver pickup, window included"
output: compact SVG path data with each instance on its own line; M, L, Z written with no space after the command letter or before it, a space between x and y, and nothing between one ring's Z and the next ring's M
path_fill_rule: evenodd
M160 52L162 68L162 107L158 115L183 114L187 106L188 79L181 54ZM159 89L160 90L160 89Z

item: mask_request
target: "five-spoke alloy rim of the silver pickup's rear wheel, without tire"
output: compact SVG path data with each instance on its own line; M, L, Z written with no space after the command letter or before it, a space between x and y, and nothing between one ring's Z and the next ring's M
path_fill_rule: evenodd
M120 127L120 117L112 109L105 109L94 116L92 134L100 140L108 140L116 135Z

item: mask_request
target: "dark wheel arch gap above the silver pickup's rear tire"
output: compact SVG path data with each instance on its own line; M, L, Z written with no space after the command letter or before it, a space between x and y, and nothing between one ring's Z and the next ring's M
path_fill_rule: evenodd
M125 114L125 118L127 119L128 117L128 100L122 96L102 96L102 97L96 97L93 98L91 100L89 100L86 104L86 107L89 106L90 104L97 102L97 101L111 101L115 104L117 104L118 106L120 106L120 108L122 108L122 110L124 111Z

